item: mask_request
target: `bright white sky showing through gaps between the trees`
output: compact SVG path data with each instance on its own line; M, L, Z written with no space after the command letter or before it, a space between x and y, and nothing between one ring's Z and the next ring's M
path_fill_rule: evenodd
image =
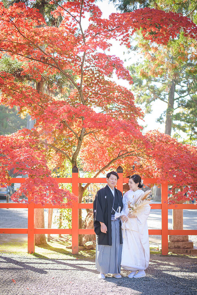
M108 18L111 13L117 12L115 5L112 2L108 3L108 0L97 1L96 5L99 6L100 10L102 11L103 18ZM136 59L138 59L138 56L133 56L133 60L132 60L131 53L130 54L127 53L128 50L127 50L126 46L119 45L119 43L116 41L113 41L112 44L113 45L111 47L109 54L116 55L121 60L123 60L125 67L131 65ZM129 90L131 89L131 87L127 81L118 80L115 75L114 75L113 79L117 84L124 86L124 87L128 88ZM135 96L135 93L133 91L132 91L132 93ZM153 130L153 129L157 129L160 132L165 131L165 124L160 124L160 123L156 122L156 119L158 117L160 117L160 115L162 114L162 112L165 109L166 109L165 102L155 101L152 104L152 113L146 114L144 116L144 122L142 120L139 120L140 125L143 125L143 126L147 125L147 127L144 128L144 132L149 131L149 130Z

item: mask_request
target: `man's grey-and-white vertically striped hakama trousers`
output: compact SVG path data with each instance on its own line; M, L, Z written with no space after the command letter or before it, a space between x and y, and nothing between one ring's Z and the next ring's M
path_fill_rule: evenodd
M122 244L120 244L119 218L112 218L112 245L96 245L96 268L102 273L120 273Z

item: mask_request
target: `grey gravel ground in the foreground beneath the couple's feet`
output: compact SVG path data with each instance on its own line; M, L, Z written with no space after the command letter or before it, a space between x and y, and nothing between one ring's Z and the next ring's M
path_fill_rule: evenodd
M0 254L1 295L196 295L196 258L152 254L146 277L97 278L93 258ZM14 281L13 281L14 280Z

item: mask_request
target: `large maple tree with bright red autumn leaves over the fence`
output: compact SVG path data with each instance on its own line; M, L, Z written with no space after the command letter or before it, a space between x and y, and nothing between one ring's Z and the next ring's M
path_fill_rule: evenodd
M157 9L139 9L113 13L102 18L94 0L65 1L53 11L61 15L59 27L50 27L42 15L23 3L6 9L0 4L0 52L20 62L20 73L0 73L1 104L20 108L36 120L32 130L20 130L0 138L0 181L9 183L13 169L29 175L13 196L29 194L35 202L61 203L73 196L58 188L51 177L51 163L61 167L66 158L70 165L82 162L84 168L102 171L122 165L131 174L137 172L158 181L190 185L196 190L196 149L182 145L162 133L143 135L137 120L143 118L134 105L131 91L112 81L113 74L132 83L123 62L109 55L111 40L130 46L130 36L141 30L149 42L167 44L180 29L186 38L196 38L197 27L186 17ZM83 19L89 15L89 24ZM55 96L51 90L38 91L29 82L44 77L64 77L72 85ZM22 79L27 77L28 80ZM79 202L87 186L79 186ZM185 197L182 193L179 197Z

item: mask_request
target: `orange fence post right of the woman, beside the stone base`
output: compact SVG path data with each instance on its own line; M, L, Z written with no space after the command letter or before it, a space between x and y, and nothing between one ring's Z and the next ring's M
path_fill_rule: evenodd
M161 183L162 197L162 255L168 254L168 194L167 182Z

